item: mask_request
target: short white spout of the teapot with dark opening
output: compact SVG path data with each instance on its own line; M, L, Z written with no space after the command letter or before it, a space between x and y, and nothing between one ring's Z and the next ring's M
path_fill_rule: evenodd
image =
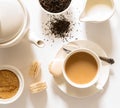
M37 36L35 36L35 33L31 31L29 31L28 39L32 44L35 44L39 48L42 48L45 46L45 43L42 40L40 40Z

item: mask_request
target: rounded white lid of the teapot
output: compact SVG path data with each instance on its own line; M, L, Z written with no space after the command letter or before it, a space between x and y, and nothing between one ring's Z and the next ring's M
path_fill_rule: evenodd
M24 16L19 0L0 0L0 43L17 36L23 27Z

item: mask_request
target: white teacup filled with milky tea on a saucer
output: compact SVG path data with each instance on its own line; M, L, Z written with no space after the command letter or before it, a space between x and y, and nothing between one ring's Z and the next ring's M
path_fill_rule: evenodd
M76 88L88 88L93 85L96 88L100 72L101 60L90 49L82 48L70 52L63 63L63 76L65 80Z

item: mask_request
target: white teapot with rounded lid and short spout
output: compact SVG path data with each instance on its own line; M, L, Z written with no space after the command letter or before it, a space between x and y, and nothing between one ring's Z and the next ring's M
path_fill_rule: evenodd
M29 31L29 23L28 12L20 0L0 0L0 48L19 43ZM42 40L31 32L29 34L30 42L38 47L44 46Z

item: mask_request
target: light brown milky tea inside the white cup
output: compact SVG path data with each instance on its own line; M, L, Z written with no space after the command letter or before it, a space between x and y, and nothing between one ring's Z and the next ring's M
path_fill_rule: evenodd
M98 65L94 57L86 52L76 52L65 64L68 78L76 84L86 84L94 79Z

